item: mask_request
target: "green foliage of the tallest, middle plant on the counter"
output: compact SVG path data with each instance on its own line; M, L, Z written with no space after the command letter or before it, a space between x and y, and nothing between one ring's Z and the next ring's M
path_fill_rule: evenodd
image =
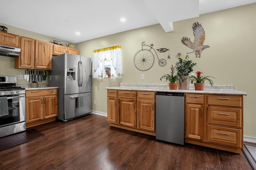
M186 55L185 59L179 58L179 61L176 63L178 76L188 76L189 73L193 71L193 67L196 65L196 63L188 60L188 58L188 55Z

